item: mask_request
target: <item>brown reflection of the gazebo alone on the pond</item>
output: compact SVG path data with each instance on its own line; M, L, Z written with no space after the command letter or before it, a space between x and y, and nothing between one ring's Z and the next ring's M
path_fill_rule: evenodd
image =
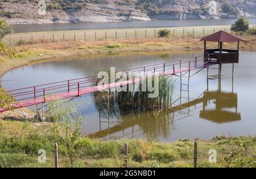
M210 99L215 99L215 109L206 110ZM235 109L230 111L227 109ZM203 97L203 110L200 117L216 123L241 120L241 114L237 113L237 94L221 91L205 91Z

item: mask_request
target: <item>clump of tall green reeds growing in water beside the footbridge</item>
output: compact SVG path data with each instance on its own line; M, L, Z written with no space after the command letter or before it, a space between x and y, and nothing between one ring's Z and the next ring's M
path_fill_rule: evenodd
M152 77L152 84L155 84ZM148 98L148 91L120 91L109 93L110 116L118 117L127 113L143 113L152 111L156 113L170 107L175 80L171 77L159 77L159 95L156 98ZM125 87L126 88L126 87ZM128 88L128 86L127 86ZM135 88L135 86L133 86ZM137 88L142 89L142 84ZM92 94L94 105L101 113L108 113L108 92L94 92Z

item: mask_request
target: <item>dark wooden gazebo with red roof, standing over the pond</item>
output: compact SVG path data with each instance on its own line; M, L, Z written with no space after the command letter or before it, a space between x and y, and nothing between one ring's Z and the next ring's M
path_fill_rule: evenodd
M239 61L239 43L242 38L229 34L225 31L218 31L214 34L201 38L204 41L204 61L208 63L224 64L238 63ZM207 49L207 41L216 41L217 49ZM237 42L237 49L224 49L224 42Z

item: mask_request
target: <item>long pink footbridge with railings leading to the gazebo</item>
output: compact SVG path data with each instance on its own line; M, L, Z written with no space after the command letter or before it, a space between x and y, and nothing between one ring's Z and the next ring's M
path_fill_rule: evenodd
M121 72L130 73L132 80L115 82L112 84L96 86L95 84L98 81L97 76L89 76L72 80L52 82L49 84L30 86L27 88L13 89L10 90L10 93L15 98L15 105L12 106L12 109L38 105L40 103L51 102L57 99L74 98L100 90L135 84L143 80L143 77L136 78L136 73L144 73L144 76L146 76L148 73L158 73L159 76L171 76L178 73L189 72L190 70L207 68L211 65L214 64L205 63L204 59L196 59L185 62L177 60L128 70L121 70ZM0 109L0 113L9 110L11 109Z

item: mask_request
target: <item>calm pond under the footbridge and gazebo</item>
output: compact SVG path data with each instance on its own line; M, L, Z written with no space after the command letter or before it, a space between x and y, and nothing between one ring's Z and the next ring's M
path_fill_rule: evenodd
M131 69L167 61L192 60L200 55L201 51L172 51L52 59L10 70L3 75L2 85L5 89L17 89L85 77L109 70L110 66ZM82 132L110 139L150 138L160 141L210 139L216 135L255 135L255 69L256 53L241 52L240 63L234 66L233 82L232 64L222 65L221 81L208 80L208 85L207 70L196 73L190 78L189 91L185 85L180 90L180 78L174 77L177 80L172 102L176 102L172 106L176 110L163 110L156 118L151 113L116 111L110 115L108 123L108 119L99 118L92 96L84 95L74 99L82 102L79 107L83 119ZM216 69L209 72L218 73ZM187 78L182 80L185 84ZM101 115L104 115L102 111Z

